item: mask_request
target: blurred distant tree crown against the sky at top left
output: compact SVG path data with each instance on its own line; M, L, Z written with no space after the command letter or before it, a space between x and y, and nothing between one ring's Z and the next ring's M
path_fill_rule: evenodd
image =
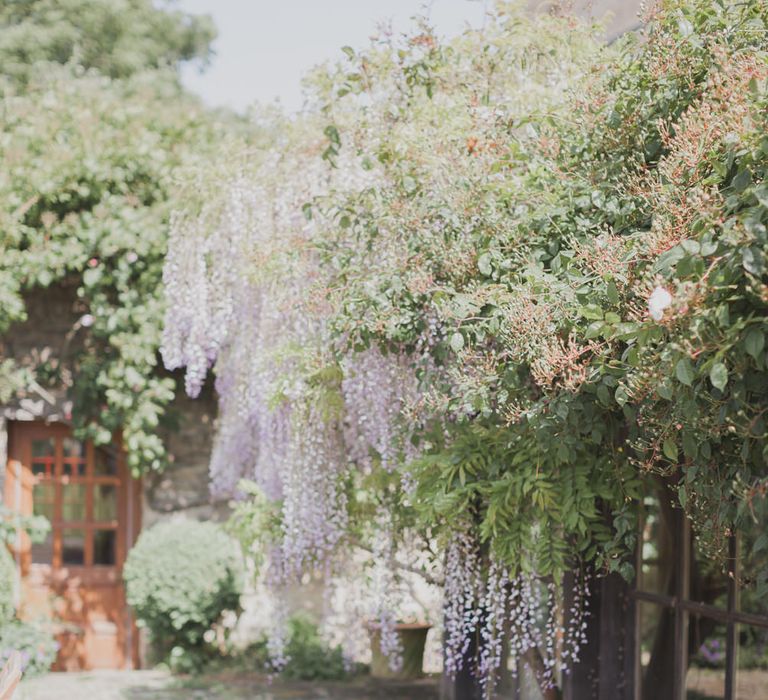
M205 60L209 17L151 0L11 0L0 8L0 66L26 82L35 63L74 62L124 78L142 70Z

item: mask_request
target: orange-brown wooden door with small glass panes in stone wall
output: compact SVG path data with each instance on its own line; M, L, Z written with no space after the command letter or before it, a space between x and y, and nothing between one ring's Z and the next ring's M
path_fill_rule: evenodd
M20 610L54 620L56 670L137 666L122 566L140 525L139 496L117 445L81 442L62 424L11 425L6 505L52 526L43 543L18 538Z

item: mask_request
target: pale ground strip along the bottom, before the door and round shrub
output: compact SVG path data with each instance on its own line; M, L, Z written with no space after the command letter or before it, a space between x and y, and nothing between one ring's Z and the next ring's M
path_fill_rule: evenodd
M359 678L348 683L274 683L263 677L179 680L163 671L50 673L23 681L14 700L436 700L437 683Z

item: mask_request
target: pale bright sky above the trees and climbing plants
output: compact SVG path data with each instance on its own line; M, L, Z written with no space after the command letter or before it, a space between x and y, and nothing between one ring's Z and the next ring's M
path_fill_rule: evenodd
M187 12L209 14L219 31L216 56L202 75L187 67L185 85L211 105L241 110L254 101L301 106L301 78L313 66L360 47L381 20L395 31L427 7L441 35L480 26L490 0L178 0Z

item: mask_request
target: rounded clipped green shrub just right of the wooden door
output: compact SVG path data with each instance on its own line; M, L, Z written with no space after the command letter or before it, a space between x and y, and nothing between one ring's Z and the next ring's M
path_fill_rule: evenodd
M123 570L128 604L170 661L205 647L225 610L239 608L240 552L213 523L173 521L142 533ZM189 658L190 654L184 654Z

